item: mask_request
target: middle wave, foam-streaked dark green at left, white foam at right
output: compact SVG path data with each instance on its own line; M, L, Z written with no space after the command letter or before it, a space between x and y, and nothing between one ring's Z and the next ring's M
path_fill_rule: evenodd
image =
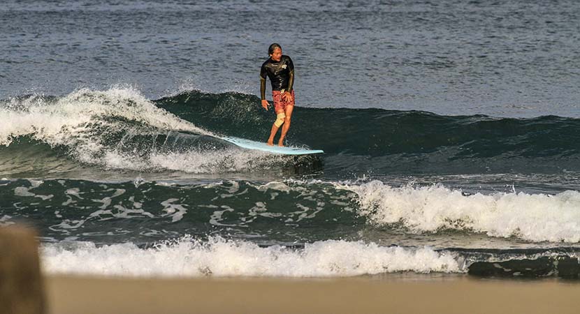
M580 193L465 193L381 181L0 181L0 207L44 237L148 243L180 234L254 241L368 239L436 248L580 243ZM14 204L17 204L14 205ZM296 232L296 228L303 230ZM248 233L249 232L249 233ZM484 243L484 244L481 244Z

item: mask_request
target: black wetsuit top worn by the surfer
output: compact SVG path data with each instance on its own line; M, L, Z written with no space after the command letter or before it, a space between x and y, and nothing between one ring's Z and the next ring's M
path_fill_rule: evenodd
M270 77L273 91L282 89L292 91L294 83L294 63L290 57L282 55L279 62L273 61L272 58L262 63L260 70L261 79L261 97L266 99L266 75Z

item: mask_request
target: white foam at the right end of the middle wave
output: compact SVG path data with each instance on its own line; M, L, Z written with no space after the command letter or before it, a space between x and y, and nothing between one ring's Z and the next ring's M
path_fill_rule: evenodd
M402 223L414 232L473 230L529 241L580 241L580 193L464 195L444 186L393 188L381 181L342 186L358 194L371 223Z

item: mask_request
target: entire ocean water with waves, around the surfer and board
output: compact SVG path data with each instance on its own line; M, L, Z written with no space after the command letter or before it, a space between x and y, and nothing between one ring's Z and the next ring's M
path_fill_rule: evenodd
M36 227L48 273L580 278L576 1L9 0L0 21L0 225ZM273 42L287 144L322 156L219 139L268 137Z

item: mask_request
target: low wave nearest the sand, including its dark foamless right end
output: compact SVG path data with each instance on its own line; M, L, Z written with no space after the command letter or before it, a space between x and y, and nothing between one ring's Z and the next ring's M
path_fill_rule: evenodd
M165 277L349 277L401 272L470 274L483 277L580 278L579 251L461 251L380 246L326 240L291 246L184 236L149 248L132 243L96 246L66 241L43 244L48 274Z

